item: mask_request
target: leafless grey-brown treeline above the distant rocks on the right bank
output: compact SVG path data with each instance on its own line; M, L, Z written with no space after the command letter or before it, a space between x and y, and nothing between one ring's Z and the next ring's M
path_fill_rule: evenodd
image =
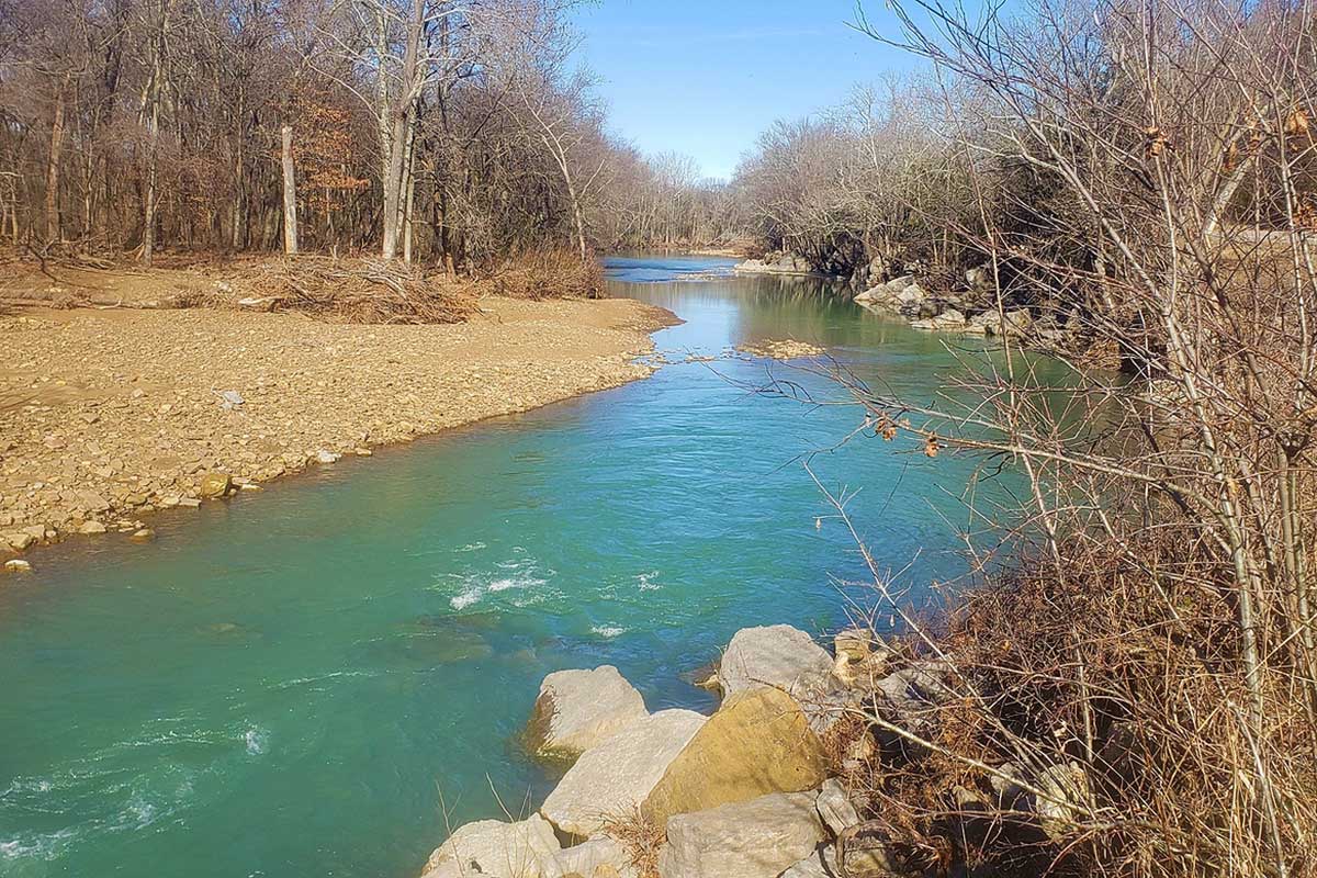
M1159 196L1158 180L1127 163L1163 153L1192 180L1172 197L1191 200L1204 228L1285 228L1289 219L1317 228L1305 95L1312 67L1304 67L1312 59L1296 58L1310 24L1271 3L1233 17L1206 8L1166 14L1166 26L1179 14L1183 26L1220 29L1237 57L1210 58L1191 30L1181 50L1192 66L1167 72L1175 105L1164 117L1151 115L1138 88L1137 46L1122 45L1110 24L1056 25L1059 39L1084 41L1064 63L1011 33L1010 50L1029 67L1009 71L1005 83L951 63L935 41L918 37L906 47L938 62L935 72L856 88L844 105L778 122L759 138L732 182L747 233L828 274L909 271L955 286L992 262L1023 294L1052 283L1056 266L1088 272L1117 261L1067 174L1101 183L1110 199L1104 207L1146 216L1156 209L1148 199ZM1021 93L1005 93L1008 86ZM1060 142L1035 120L1050 113L1064 125ZM1094 120L1110 130L1094 130Z

